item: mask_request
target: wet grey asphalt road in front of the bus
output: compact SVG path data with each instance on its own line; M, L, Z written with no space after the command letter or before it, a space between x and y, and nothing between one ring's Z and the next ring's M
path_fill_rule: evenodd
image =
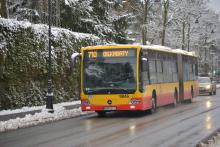
M154 115L96 114L0 133L4 147L190 147L220 128L220 90L192 104L159 108Z

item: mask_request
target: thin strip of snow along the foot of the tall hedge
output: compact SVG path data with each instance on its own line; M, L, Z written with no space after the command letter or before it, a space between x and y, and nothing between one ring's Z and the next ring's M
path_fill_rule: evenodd
M60 107L60 106L71 106L71 105L77 105L80 104L80 101L73 101L73 102L63 102L59 104L54 104L54 107ZM29 112L29 111L34 111L34 110L42 110L46 106L33 106L33 107L23 107L21 109L15 109L15 110L2 110L0 111L0 116L1 115L9 115L9 114L16 114L16 113L22 113L22 112Z

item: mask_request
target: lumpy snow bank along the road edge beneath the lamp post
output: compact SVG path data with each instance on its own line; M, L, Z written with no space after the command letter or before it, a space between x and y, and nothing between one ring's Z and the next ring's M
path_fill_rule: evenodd
M64 106L56 105L54 107L54 113L48 113L46 109L43 109L40 113L35 113L34 115L27 114L24 118L0 121L0 132L35 126L47 122L54 122L57 120L68 119L89 113L93 112L82 112L81 108L66 110Z

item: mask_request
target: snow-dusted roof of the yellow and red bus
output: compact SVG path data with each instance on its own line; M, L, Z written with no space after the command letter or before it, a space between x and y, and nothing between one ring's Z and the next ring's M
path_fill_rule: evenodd
M84 47L84 50L92 49L113 49L113 48L142 48L143 50L156 50L162 52L169 52L174 54L182 54L187 56L197 57L195 52L187 52L182 49L172 49L170 47L161 46L161 45L139 45L139 44L112 44L112 45L96 45L96 46L87 46Z

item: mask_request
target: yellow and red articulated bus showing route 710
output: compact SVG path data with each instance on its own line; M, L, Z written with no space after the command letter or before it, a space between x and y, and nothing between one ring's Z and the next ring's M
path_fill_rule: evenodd
M81 49L83 111L155 112L198 95L197 57L164 46L105 45Z

